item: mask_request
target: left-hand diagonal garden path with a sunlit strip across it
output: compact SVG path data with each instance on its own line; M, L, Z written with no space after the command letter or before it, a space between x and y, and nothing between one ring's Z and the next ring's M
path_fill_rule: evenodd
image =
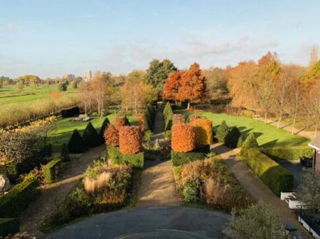
M105 145L85 152L71 165L70 169L63 173L58 182L42 187L40 197L28 206L28 209L19 218L20 231L27 231L37 238L42 236L43 233L41 233L39 227L43 219L55 211L82 177L92 160L102 155L103 152L105 152Z

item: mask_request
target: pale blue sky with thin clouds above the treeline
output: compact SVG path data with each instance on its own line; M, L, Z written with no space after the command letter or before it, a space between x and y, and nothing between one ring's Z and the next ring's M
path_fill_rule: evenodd
M319 22L319 0L0 0L0 76L226 67L268 50L307 65Z

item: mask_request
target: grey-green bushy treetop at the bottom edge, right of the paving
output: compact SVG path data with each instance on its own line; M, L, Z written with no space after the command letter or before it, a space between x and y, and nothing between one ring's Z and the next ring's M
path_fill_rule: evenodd
M229 226L239 239L289 239L277 213L262 201L233 210Z

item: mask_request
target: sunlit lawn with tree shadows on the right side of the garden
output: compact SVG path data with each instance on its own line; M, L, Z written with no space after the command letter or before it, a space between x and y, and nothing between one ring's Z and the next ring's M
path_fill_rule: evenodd
M292 135L287 130L278 129L262 121L255 121L253 118L210 112L175 111L175 113L184 113L186 115L199 113L210 119L215 129L218 128L222 121L225 121L228 126L238 127L242 135L254 133L257 138L257 143L262 147L306 146L310 141L308 138Z

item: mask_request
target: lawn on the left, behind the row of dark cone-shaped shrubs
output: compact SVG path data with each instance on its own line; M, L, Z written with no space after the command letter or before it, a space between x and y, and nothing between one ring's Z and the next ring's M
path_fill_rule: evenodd
M115 116L113 114L107 116L110 122L112 122L114 117ZM70 137L73 134L74 129L77 129L80 135L82 135L82 132L83 130L85 130L87 123L89 123L88 121L73 122L72 121L73 118L75 117L60 118L53 123L53 129L50 130L48 135L48 143L50 143L53 146L53 152L60 152L60 149L63 143L68 144L68 141L70 140ZM137 124L136 118L132 116L128 116L127 118L130 124L132 125ZM104 118L100 118L100 117L92 117L92 119L90 120L93 127L95 127L95 130L97 130L97 133L99 133L100 131L103 120Z

